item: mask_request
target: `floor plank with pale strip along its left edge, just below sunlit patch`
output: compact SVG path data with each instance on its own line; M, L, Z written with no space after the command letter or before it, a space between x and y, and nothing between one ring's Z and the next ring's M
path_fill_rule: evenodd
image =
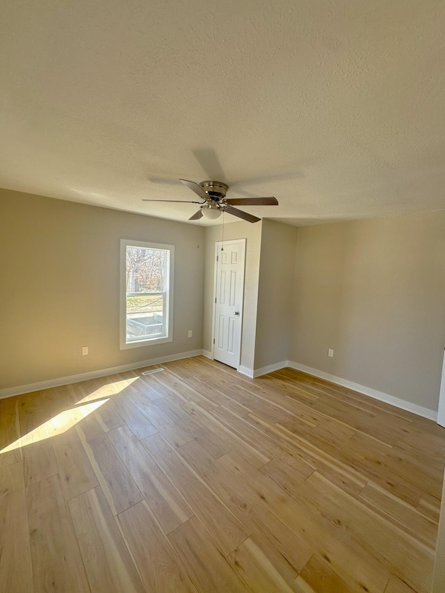
M76 428L113 514L142 501L140 490L106 434L103 432L87 442L82 428L79 425Z

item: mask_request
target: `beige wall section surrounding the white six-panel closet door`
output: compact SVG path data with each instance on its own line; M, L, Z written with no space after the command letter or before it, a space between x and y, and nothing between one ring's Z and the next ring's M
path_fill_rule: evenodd
M246 239L243 330L241 339L241 366L253 369L255 332L257 329L257 300L259 282L259 255L261 248L261 222L231 222L225 225L224 238ZM223 225L205 230L204 263L204 320L202 348L211 352L213 324L213 283L215 278L215 243L223 237Z

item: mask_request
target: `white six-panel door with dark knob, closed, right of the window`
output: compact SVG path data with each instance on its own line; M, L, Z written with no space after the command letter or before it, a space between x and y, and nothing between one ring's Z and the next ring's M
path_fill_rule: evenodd
M245 239L216 243L215 255L213 357L238 368L243 323Z

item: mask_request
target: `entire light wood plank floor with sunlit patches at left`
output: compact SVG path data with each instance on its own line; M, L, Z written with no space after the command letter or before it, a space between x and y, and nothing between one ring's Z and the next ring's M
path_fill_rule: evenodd
M0 401L0 590L430 591L445 430L203 357Z

